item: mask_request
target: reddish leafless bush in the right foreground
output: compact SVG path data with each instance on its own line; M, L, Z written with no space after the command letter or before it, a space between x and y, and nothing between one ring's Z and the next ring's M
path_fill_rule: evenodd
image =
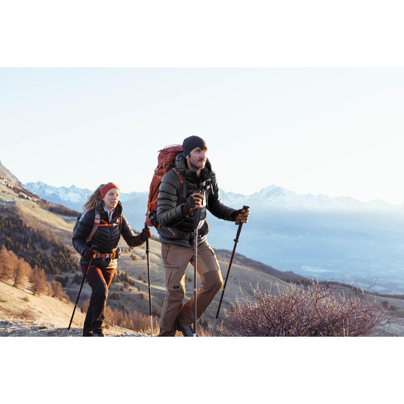
M344 290L331 283L312 281L306 286L290 284L285 289L242 296L224 310L223 335L241 336L359 336L377 335L397 322L369 289Z

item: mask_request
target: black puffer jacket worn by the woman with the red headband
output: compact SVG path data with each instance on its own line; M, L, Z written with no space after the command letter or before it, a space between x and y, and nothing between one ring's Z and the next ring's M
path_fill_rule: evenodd
M104 210L102 204L99 204L96 208L99 211L101 220L109 223L108 213ZM117 207L112 215L111 223L116 223L119 218L121 218L121 224L119 226L103 226L98 227L91 240L86 244L85 240L90 234L92 227L94 225L95 209L87 211L80 219L77 227L73 231L73 246L76 251L81 255L80 264L87 264L88 258L83 256L84 251L90 247L93 250L100 252L101 254L108 254L115 252L118 246L121 234L125 239L126 243L130 247L136 247L144 243L141 239L140 234L135 236L133 230L129 226L125 215L122 213L122 204L118 202ZM94 265L99 265L103 268L116 268L117 260L111 258L97 258L92 260Z

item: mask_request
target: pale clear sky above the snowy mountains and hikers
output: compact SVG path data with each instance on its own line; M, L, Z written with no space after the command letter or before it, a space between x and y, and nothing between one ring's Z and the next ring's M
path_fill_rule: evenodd
M404 201L401 68L3 68L0 160L22 182L148 189L197 134L226 191Z

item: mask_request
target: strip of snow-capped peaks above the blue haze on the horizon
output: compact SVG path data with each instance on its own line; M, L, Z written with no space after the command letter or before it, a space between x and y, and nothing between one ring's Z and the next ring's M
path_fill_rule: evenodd
M81 211L81 208L92 190L77 188L75 185L67 187L55 187L41 181L28 182L24 188L39 195L41 198L55 204L65 205L71 209ZM259 192L250 195L242 195L234 192L220 190L223 203L231 207L242 207L248 205L255 210L286 209L286 210L396 210L404 209L403 206L391 205L379 199L371 200L368 203L352 199L347 196L331 198L327 195L306 195L296 194L285 188L270 185ZM136 201L147 205L148 192L121 193L122 203Z

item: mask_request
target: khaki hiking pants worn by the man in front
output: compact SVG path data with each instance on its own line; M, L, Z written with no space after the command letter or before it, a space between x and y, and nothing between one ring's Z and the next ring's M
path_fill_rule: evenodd
M161 245L167 293L161 312L159 337L174 336L176 321L182 325L193 324L193 296L182 305L185 296L185 269L190 261L193 263L193 252L193 247ZM215 253L207 241L198 245L197 254L200 287L196 292L196 317L199 319L223 286L223 278ZM190 284L193 289L193 279Z

